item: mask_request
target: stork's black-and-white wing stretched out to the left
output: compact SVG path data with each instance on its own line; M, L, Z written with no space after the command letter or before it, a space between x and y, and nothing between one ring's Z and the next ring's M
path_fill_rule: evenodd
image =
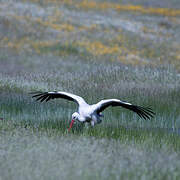
M67 99L69 101L74 101L78 105L85 104L86 102L84 99L80 96L63 92L63 91L52 91L52 92L33 92L33 98L36 98L37 101L43 102L43 101L49 101L51 99L55 98L62 98L62 99Z

